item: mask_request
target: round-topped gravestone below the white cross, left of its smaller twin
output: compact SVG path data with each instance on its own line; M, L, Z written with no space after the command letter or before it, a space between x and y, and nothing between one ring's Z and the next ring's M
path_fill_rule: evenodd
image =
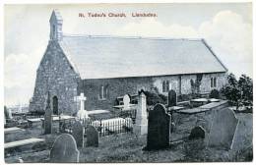
M81 122L76 121L72 126L72 136L76 139L78 147L84 147L85 129Z

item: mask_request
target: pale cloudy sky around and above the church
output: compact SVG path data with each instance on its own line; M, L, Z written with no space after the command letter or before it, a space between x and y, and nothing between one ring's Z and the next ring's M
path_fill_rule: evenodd
M228 72L252 78L251 3L5 5L4 101L29 103L36 69L58 9L69 34L205 38ZM126 18L79 18L79 13L125 13ZM132 13L156 13L133 18Z

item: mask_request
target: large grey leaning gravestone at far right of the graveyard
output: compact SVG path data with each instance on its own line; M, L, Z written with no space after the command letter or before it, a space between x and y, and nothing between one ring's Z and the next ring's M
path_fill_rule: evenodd
M232 110L215 110L208 145L231 149L237 123Z

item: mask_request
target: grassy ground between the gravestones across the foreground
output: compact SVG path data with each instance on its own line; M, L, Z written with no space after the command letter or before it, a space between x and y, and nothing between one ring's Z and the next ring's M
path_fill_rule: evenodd
M240 121L238 132L240 144L231 150L210 148L203 139L183 140L172 144L169 148L157 151L145 151L146 136L137 137L134 134L118 134L99 138L98 147L79 148L80 162L243 162L252 160L252 114L236 114ZM179 120L171 140L184 138L196 124L196 118L190 116ZM36 136L37 135L37 136ZM31 147L15 148L6 155L6 162L18 162L22 157L24 162L48 162L50 148L59 134L42 135L40 126L28 129L26 133L16 136L17 139L45 138L45 142ZM5 139L10 140L10 139Z

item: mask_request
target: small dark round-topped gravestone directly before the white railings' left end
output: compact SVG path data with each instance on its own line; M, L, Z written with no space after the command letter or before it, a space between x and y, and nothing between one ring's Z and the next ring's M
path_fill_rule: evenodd
M99 135L94 126L87 129L87 146L98 146Z

